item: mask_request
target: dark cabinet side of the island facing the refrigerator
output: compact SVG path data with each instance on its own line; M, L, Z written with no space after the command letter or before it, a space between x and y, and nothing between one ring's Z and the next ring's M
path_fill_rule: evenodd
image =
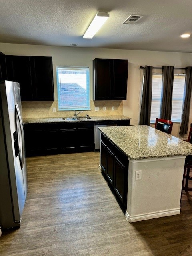
M128 158L108 138L101 134L101 169L120 206L126 210L128 188Z

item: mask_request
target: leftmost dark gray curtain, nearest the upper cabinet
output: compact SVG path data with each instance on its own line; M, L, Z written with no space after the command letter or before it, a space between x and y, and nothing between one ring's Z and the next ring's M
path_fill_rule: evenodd
M145 66L139 124L150 126L153 66Z

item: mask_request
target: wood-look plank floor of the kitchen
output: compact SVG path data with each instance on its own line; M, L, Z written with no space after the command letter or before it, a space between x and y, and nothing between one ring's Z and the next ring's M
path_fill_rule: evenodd
M0 256L191 256L192 193L180 215L130 224L98 162L94 152L28 158L22 224L3 232Z

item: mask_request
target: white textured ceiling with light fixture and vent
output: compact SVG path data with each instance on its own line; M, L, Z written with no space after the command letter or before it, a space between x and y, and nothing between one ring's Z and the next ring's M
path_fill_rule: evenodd
M109 19L83 39L98 11ZM144 17L122 24L131 14ZM192 0L0 0L5 43L192 52L192 35L182 39L184 33L192 33Z

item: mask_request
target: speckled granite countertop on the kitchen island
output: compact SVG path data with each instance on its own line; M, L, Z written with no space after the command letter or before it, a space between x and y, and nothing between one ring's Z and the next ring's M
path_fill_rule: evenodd
M192 155L192 144L147 125L99 128L130 160Z

